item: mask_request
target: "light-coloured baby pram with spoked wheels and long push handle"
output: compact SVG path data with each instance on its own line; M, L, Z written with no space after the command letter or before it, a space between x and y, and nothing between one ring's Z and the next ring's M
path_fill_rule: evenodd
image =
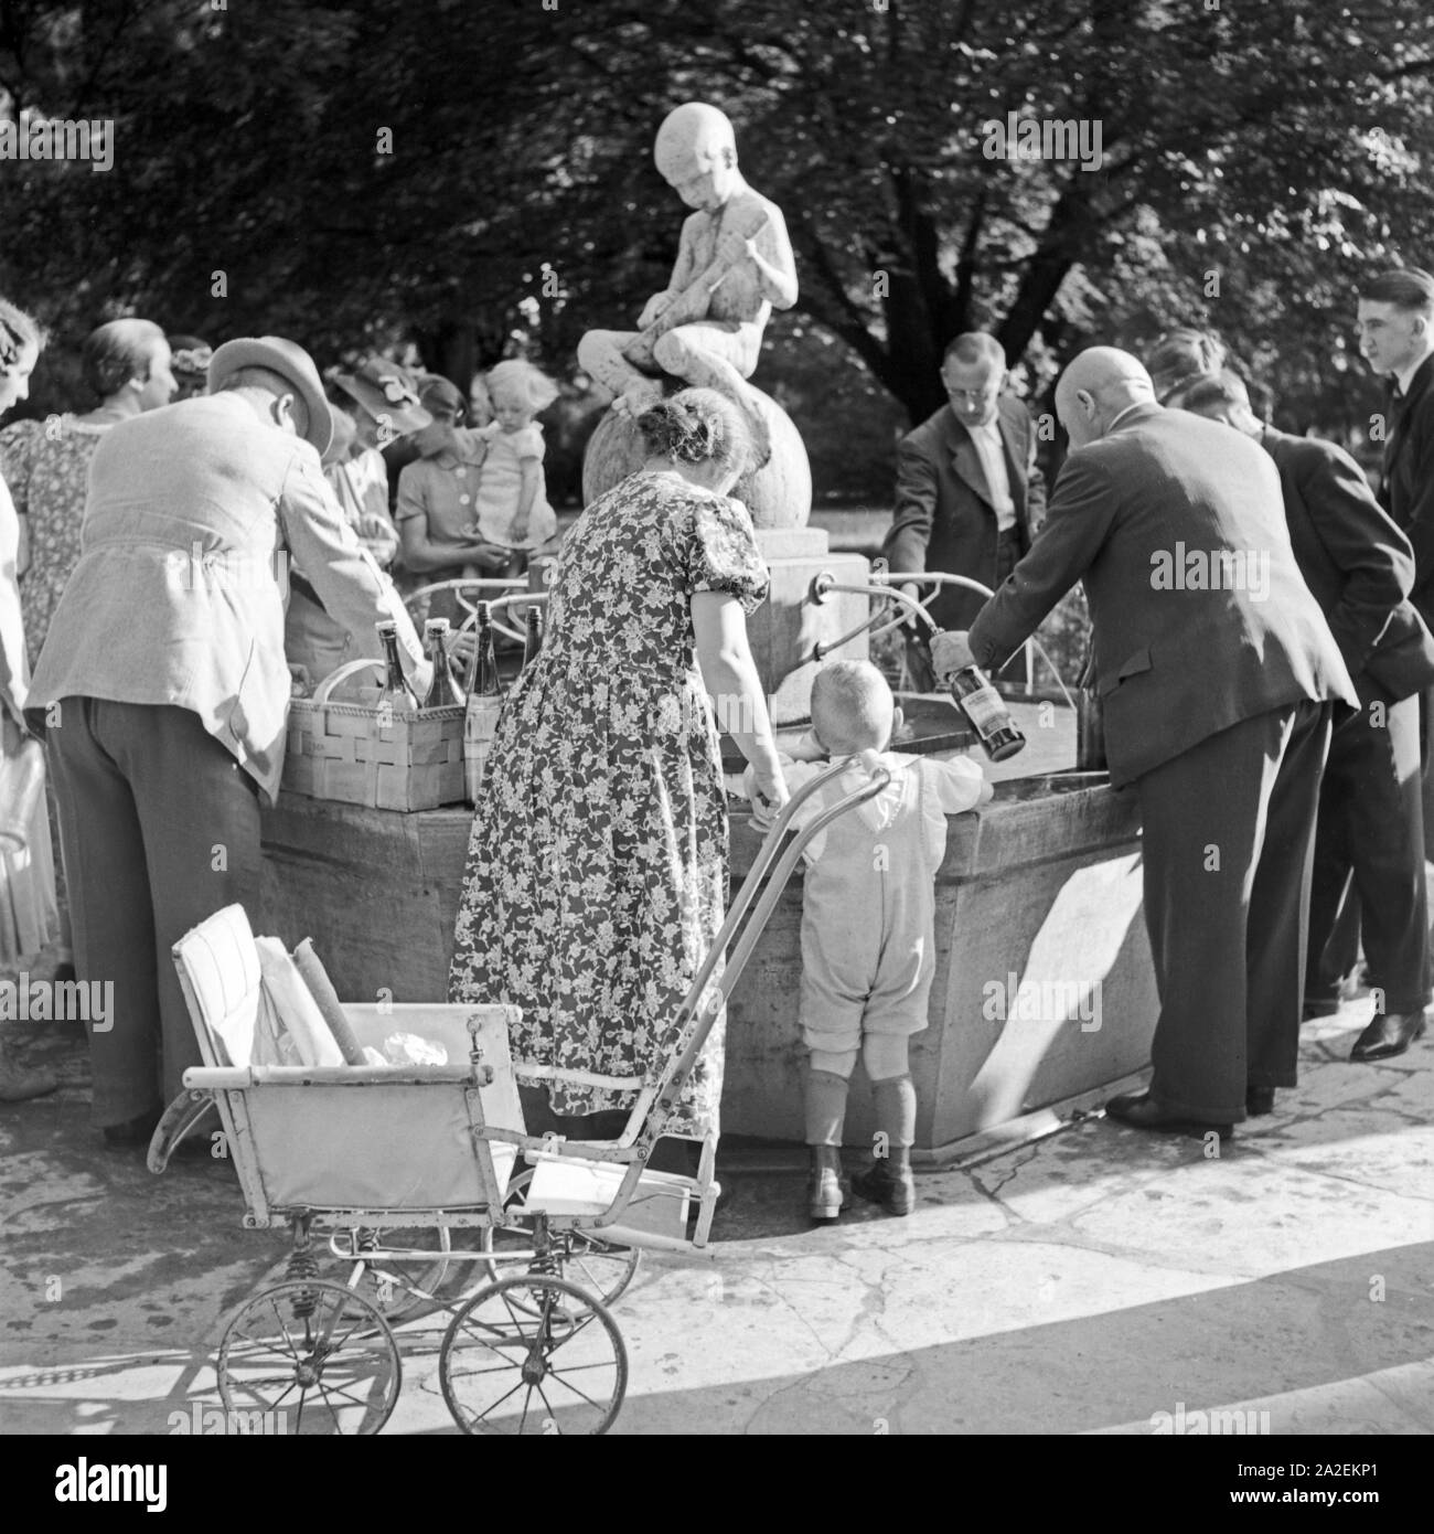
M465 1433L612 1425L627 1353L609 1305L643 1249L707 1244L721 1192L712 1138L695 1177L649 1170L653 1143L802 848L888 781L877 772L788 838L802 804L840 770L805 784L773 822L681 1002L681 1048L653 1080L514 1062L509 1006L345 1003L359 1043L397 1028L445 1046L448 1065L253 1065L259 957L244 910L218 911L175 945L206 1063L186 1071L150 1169L164 1170L215 1103L245 1227L293 1233L284 1279L247 1299L219 1342L227 1413L267 1433L377 1433L402 1379L394 1327L442 1310L451 1321L439 1381ZM525 1132L520 1077L636 1100L615 1141L540 1138ZM342 1282L321 1276L325 1247Z

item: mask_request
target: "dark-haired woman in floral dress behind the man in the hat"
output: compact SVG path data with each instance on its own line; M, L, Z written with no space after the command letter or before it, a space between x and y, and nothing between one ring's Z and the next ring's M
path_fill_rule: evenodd
M51 614L80 563L89 460L110 426L167 405L175 393L169 342L147 319L113 319L81 351L86 387L100 405L84 416L18 420L0 431L0 472L20 512L20 597L31 666Z

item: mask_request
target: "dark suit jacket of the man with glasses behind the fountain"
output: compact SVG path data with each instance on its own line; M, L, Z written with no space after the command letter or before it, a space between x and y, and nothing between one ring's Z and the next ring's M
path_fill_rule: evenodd
M1006 477L1015 503L1021 552L1040 526L1046 486L1035 466L1035 431L1026 407L1009 394L997 402ZM896 515L882 546L893 571L945 571L995 588L995 508L971 433L949 405L902 439L896 459ZM943 629L969 629L985 597L942 588L931 614Z

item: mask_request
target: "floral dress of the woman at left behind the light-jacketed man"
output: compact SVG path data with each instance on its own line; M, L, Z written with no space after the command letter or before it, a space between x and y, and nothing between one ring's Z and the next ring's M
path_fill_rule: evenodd
M54 430L43 420L17 420L0 431L0 474L11 488L15 511L26 518L29 537L20 601L31 669L40 660L64 583L80 563L89 460L109 430L60 416Z

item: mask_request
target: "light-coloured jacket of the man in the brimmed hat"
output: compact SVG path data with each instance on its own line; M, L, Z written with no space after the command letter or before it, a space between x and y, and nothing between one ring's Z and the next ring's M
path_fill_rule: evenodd
M367 643L374 623L393 618L400 646L422 658L319 454L236 394L181 400L107 431L90 463L80 549L29 707L83 696L190 709L270 802L291 692L288 551L353 635Z

